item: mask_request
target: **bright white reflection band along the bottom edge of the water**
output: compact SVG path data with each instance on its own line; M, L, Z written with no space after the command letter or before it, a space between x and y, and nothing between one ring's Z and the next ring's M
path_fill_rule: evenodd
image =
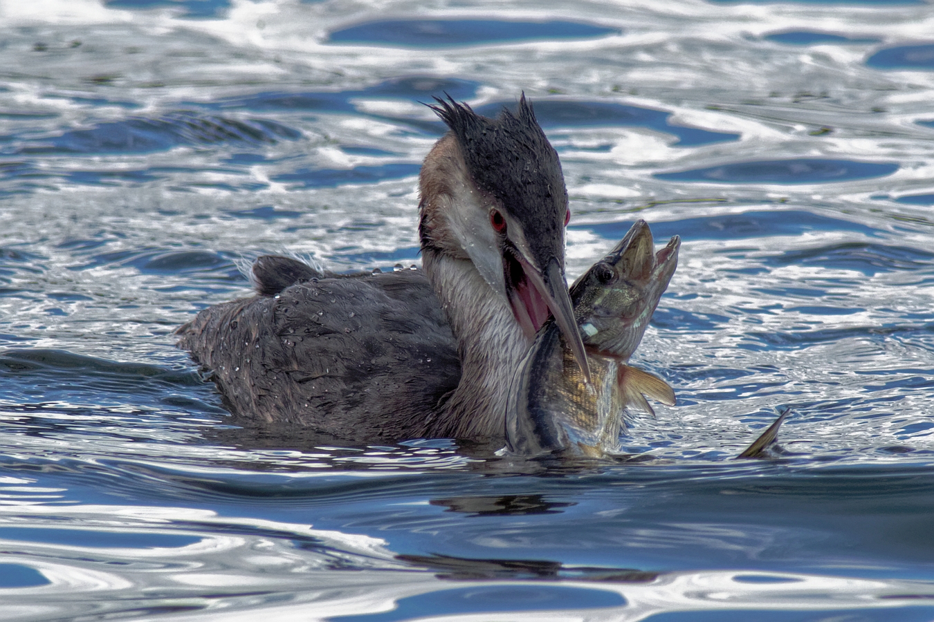
M3 537L28 527L82 533L149 534L153 546L50 545ZM191 536L186 546L159 546L164 536ZM386 542L366 535L315 530L305 524L219 516L187 507L74 505L6 507L0 511L5 563L35 568L47 585L0 589L4 619L49 620L67 616L112 619L171 614L174 620L325 620L345 615L380 617L400 601L455 590L450 615L422 611L419 618L474 619L458 612L463 590L575 588L616 593L618 606L496 612L496 619L579 619L634 622L662 613L789 611L845 613L912 606L929 599L927 581L870 580L801 573L723 570L659 574L636 583L611 581L446 581L397 560ZM568 572L574 571L567 567ZM597 590L594 592L594 590ZM591 596L591 598L593 598ZM592 606L592 605L590 605ZM531 607L534 610L534 607ZM426 618L426 619L427 619ZM408 619L408 618L405 618Z

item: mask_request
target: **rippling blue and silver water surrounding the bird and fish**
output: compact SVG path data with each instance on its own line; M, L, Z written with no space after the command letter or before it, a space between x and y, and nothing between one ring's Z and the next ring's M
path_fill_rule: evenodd
M926 7L7 11L2 617L931 619ZM425 104L523 92L569 283L638 218L681 238L629 361L675 406L629 408L599 460L234 419L177 328L252 296L264 254L420 269Z

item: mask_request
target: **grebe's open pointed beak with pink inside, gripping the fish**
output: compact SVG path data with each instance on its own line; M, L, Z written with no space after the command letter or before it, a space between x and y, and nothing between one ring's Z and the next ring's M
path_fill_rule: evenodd
M509 291L509 301L519 325L522 326L527 337L534 339L538 328L545 323L548 311L551 311L561 334L571 345L574 359L581 367L584 378L589 384L590 366L587 363L587 352L584 350L584 341L577 329L571 296L568 294L568 286L561 273L558 259L552 257L545 264L545 269L539 270L521 253L516 255L527 280L527 284L520 282ZM528 287L529 284L531 288ZM543 306L546 306L546 309L543 309Z

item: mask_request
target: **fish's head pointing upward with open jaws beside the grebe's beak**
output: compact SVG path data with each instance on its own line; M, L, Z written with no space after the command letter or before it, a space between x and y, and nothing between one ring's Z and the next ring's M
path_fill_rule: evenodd
M680 244L674 236L656 253L652 231L638 220L609 255L573 283L574 319L587 350L629 360L672 280Z

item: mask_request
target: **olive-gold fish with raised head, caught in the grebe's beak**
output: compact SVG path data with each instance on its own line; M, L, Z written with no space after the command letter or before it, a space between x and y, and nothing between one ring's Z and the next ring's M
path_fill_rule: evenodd
M505 418L508 453L603 457L620 450L625 408L654 415L646 397L674 405L665 380L627 364L672 280L680 244L674 236L655 253L651 230L638 220L609 255L573 283L574 320L591 381L559 326L546 322L513 376Z

